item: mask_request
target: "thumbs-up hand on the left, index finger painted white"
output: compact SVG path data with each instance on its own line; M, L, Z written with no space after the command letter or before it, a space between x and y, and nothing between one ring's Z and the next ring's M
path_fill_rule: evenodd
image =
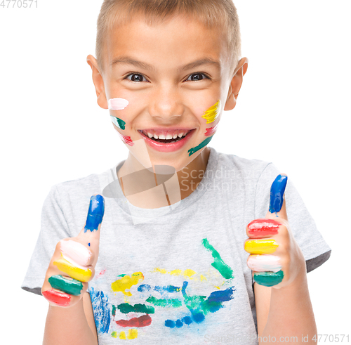
M88 281L93 279L98 261L104 212L104 198L93 195L86 225L79 235L65 238L56 245L41 287L41 294L52 306L74 306L88 289Z

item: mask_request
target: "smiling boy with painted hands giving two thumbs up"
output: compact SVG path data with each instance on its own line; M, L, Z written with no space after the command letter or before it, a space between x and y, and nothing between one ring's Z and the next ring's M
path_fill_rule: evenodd
M311 340L306 266L328 245L272 164L207 146L248 65L232 2L105 1L96 53L130 153L48 195L22 285L49 301L44 344Z

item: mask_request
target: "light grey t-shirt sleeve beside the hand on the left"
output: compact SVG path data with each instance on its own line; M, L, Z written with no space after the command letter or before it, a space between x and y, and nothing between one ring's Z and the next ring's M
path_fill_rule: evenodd
M60 207L60 195L54 185L41 211L41 230L35 245L29 267L22 282L22 289L34 294L41 294L41 286L44 283L48 264L58 242L71 237L64 213Z

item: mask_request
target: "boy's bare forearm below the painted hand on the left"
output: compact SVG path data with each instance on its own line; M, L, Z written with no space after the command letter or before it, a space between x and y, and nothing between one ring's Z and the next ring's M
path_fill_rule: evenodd
M88 293L70 308L49 305L43 345L97 345L93 308Z

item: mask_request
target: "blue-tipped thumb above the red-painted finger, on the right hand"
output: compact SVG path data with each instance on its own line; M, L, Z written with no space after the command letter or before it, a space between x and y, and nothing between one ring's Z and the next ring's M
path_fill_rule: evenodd
M284 192L288 176L286 174L279 174L272 183L270 188L270 208L267 211L265 218L276 219L277 217L288 220L286 214L286 205Z

